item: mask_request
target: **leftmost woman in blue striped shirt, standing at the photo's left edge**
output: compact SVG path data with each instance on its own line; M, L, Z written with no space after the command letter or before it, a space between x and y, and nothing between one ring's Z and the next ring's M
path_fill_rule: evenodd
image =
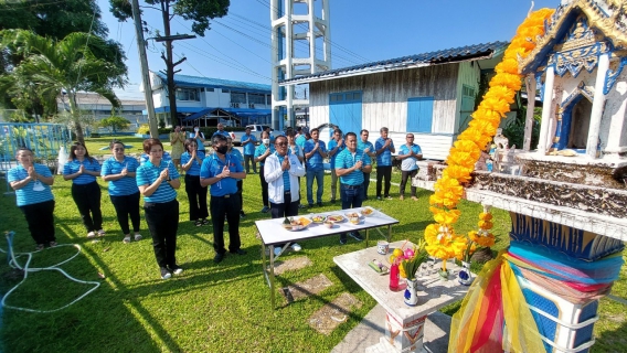
M9 170L7 180L15 191L18 207L24 213L36 249L43 250L46 244L54 247L54 196L50 189L54 178L47 167L33 163L33 151L25 147L18 149L15 159L20 164Z

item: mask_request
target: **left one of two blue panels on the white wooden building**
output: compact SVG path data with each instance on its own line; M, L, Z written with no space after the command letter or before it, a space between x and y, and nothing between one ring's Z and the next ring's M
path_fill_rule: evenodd
M329 122L340 127L343 133L361 131L361 92L329 95Z

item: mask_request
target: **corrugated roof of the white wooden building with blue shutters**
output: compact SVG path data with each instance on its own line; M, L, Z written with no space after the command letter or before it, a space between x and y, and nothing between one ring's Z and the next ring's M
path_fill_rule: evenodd
M279 84L306 83L319 81L327 77L341 77L360 73L374 73L386 69L398 69L404 67L427 66L435 64L453 63L471 58L490 57L495 53L504 51L508 42L491 42L475 45L451 47L442 51L407 55L403 57L382 60L355 66L329 69L311 75L299 76L296 78L279 81Z

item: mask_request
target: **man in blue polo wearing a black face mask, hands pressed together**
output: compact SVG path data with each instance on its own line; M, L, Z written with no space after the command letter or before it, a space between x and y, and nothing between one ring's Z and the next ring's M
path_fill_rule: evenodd
M237 158L227 154L226 138L216 135L211 139L214 153L208 156L200 169L200 184L211 185L211 223L213 224L214 263L224 259L224 216L229 222L229 253L245 255L240 240L240 197L237 196L237 179L246 179L244 168Z

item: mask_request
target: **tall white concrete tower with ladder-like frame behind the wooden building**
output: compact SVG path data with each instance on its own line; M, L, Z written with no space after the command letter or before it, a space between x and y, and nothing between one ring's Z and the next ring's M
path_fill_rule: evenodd
M296 126L295 108L307 107L309 99L278 81L331 68L329 0L270 0L270 20L273 128L283 130L286 119Z

